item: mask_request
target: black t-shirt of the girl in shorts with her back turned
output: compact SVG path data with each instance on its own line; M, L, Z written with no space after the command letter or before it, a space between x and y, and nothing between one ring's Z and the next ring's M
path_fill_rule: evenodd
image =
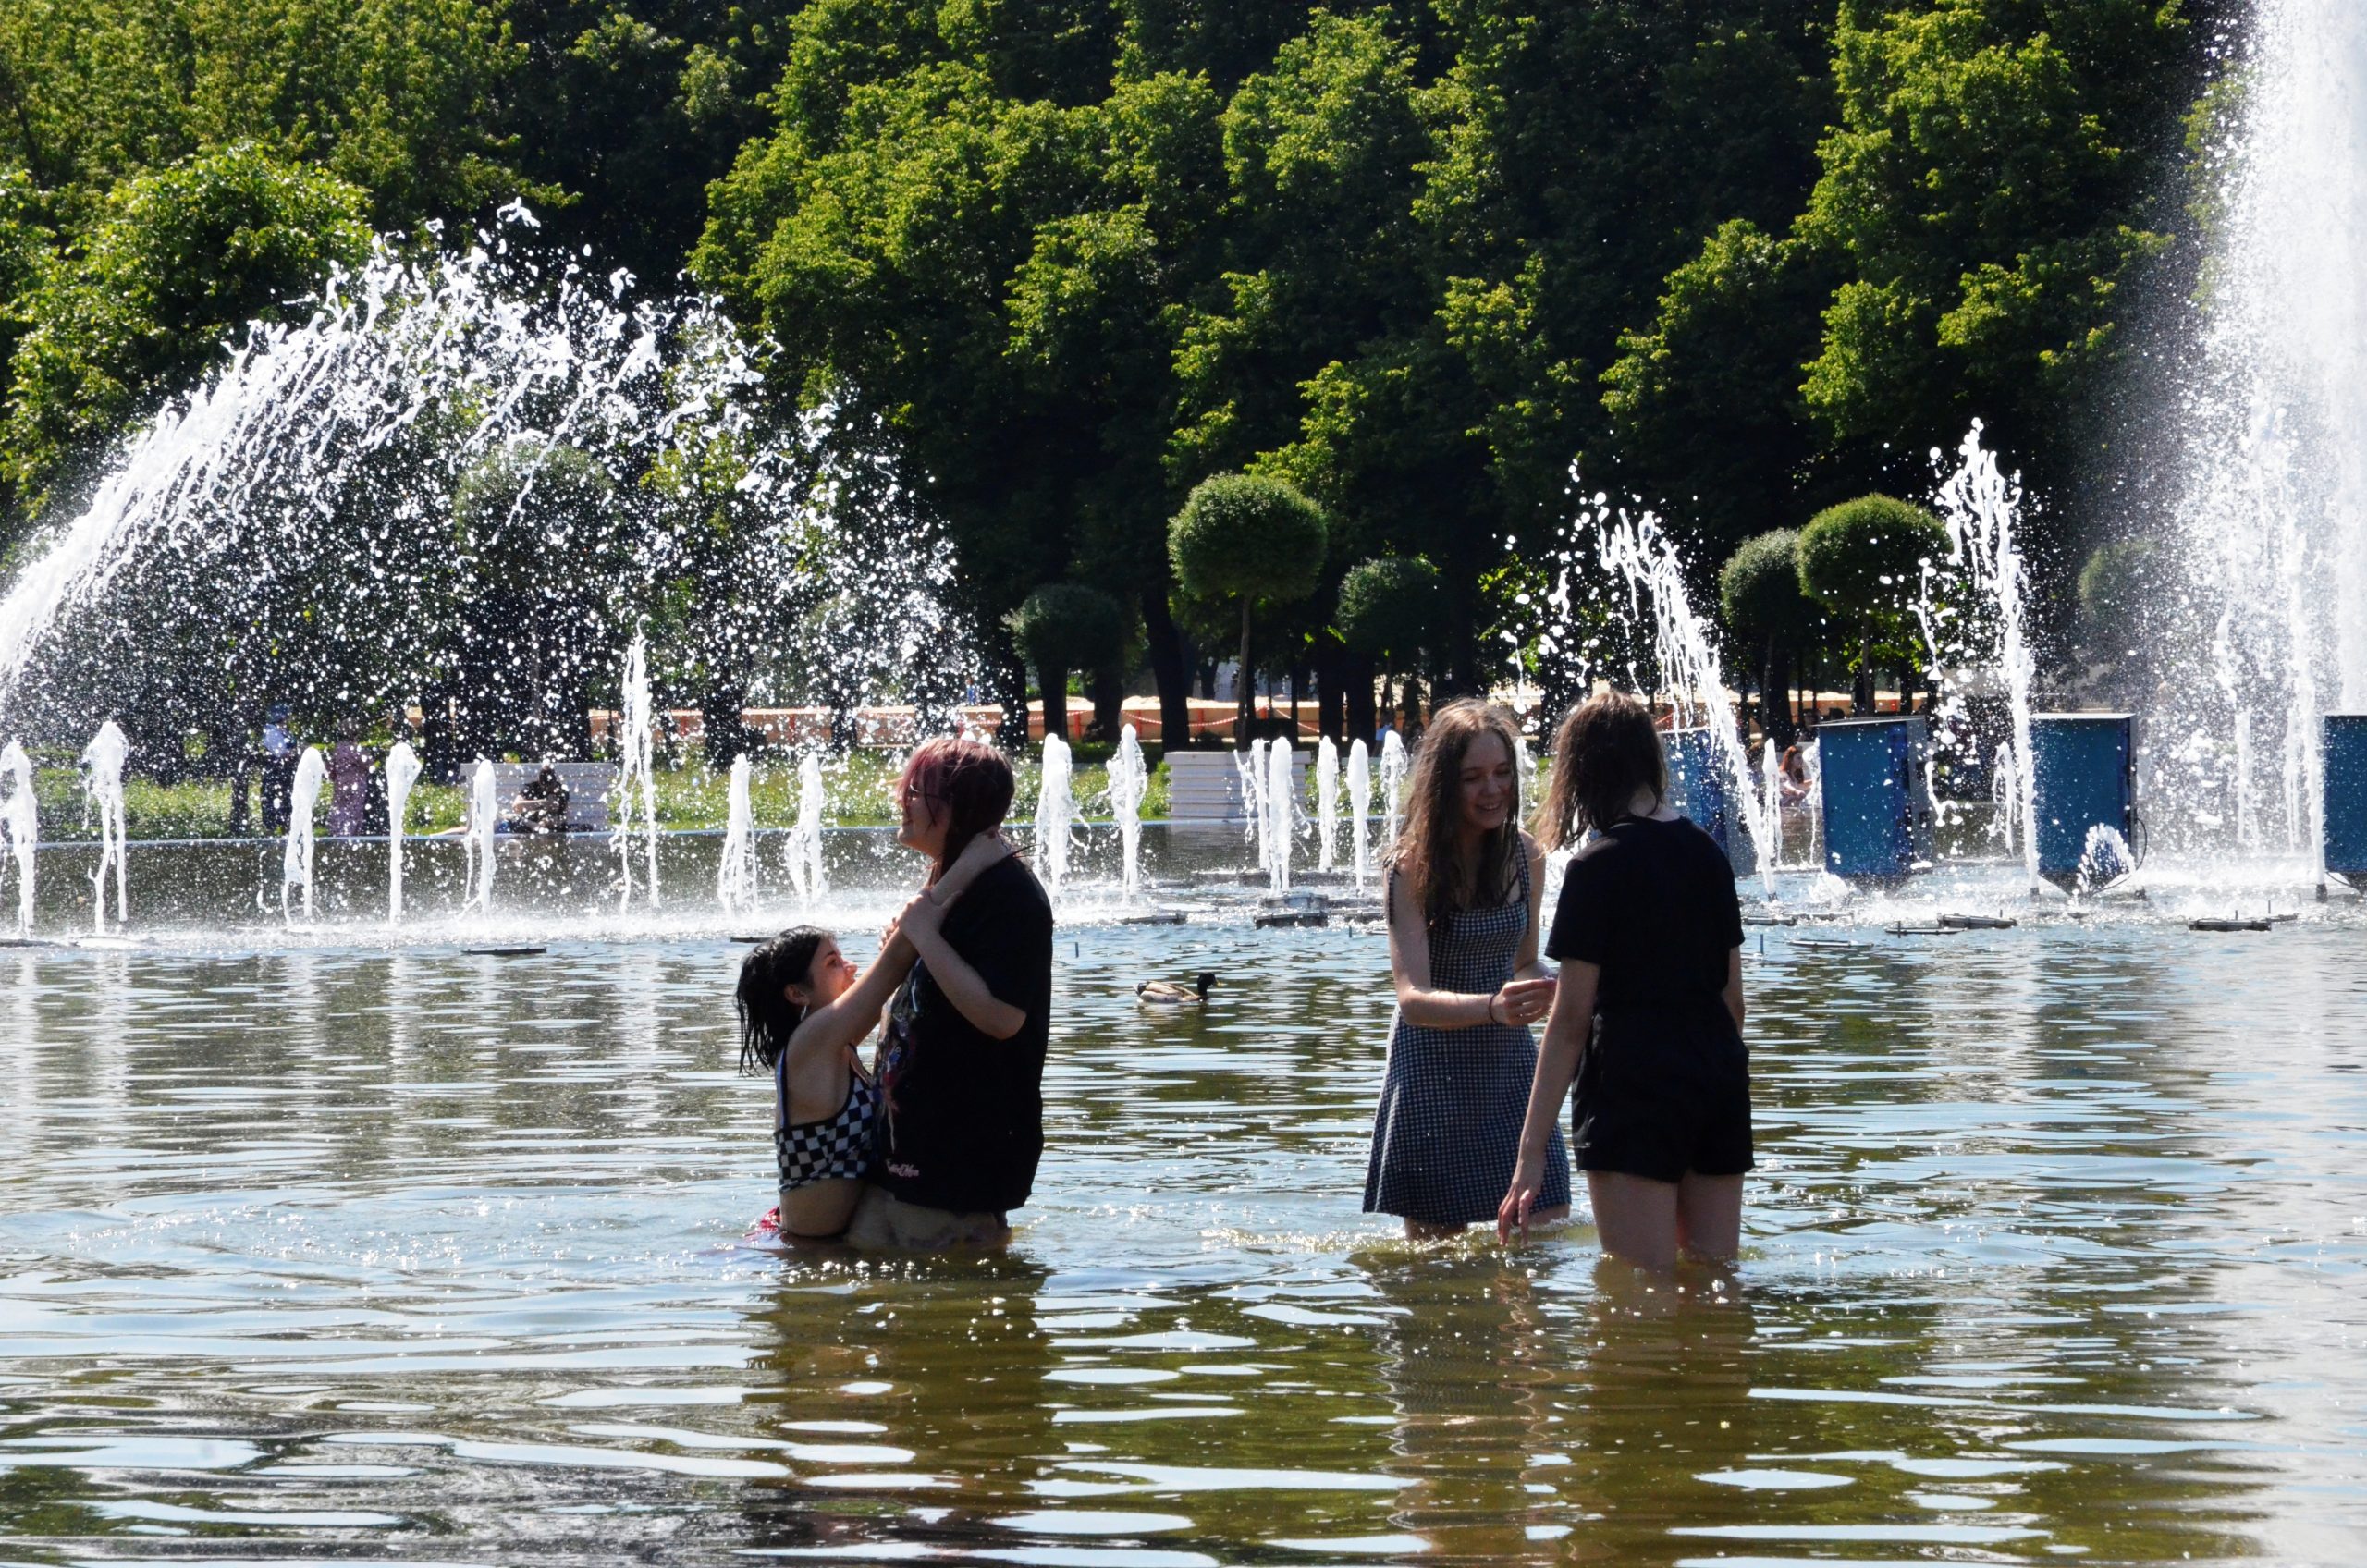
M1612 1014L1721 995L1740 945L1742 900L1718 841L1685 817L1628 817L1572 857L1546 957L1598 964L1595 1009Z

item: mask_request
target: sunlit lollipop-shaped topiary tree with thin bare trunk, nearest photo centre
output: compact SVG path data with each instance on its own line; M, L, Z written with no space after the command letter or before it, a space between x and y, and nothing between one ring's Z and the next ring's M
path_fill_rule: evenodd
M1202 478L1167 523L1167 557L1184 592L1240 604L1240 737L1250 734L1257 606L1290 604L1316 590L1326 535L1323 507L1266 474Z

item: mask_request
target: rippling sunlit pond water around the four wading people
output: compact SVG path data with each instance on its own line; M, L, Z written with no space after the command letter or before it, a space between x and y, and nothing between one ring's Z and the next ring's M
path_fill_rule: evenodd
M383 893L336 848L329 907ZM741 1241L727 926L0 952L7 1556L2358 1559L2353 907L1754 933L1749 1255L1676 1298L1584 1227L1359 1215L1382 938L1257 931L1167 848L1193 924L1060 926L1049 1151L987 1260ZM135 924L168 865L135 846ZM1134 1002L1200 969L1205 1014Z

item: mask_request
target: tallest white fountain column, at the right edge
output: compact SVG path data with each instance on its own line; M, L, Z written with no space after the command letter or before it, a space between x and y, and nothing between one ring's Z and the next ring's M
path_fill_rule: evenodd
M2166 663L2147 732L2201 741L2154 748L2147 793L2192 803L2154 831L2211 850L2251 829L2320 872L2322 715L2367 711L2367 7L2251 14L2175 412L2182 583L2130 640ZM2270 758L2277 789L2251 777Z

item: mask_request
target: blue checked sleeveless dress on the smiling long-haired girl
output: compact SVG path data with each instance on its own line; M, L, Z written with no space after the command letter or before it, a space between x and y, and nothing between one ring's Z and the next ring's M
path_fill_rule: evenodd
M1458 910L1430 933L1430 988L1494 992L1513 978L1527 928L1529 857L1520 855L1520 898L1498 910ZM1420 1028L1399 1016L1373 1113L1363 1213L1427 1225L1494 1220L1503 1189L1513 1184L1534 1075L1536 1037L1527 1028ZM1555 1127L1536 1206L1567 1203L1569 1146Z

